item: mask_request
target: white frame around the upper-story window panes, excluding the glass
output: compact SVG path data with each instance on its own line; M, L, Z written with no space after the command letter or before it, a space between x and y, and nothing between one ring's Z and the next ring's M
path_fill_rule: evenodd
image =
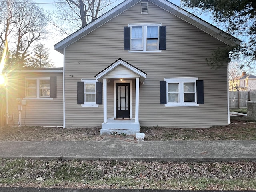
M158 50L147 50L147 26L158 26ZM143 46L143 50L129 50L128 52L133 52L133 53L161 52L162 50L159 50L159 26L162 26L162 23L128 24L128 27L130 27L131 49L132 49L132 27L142 27L142 46Z

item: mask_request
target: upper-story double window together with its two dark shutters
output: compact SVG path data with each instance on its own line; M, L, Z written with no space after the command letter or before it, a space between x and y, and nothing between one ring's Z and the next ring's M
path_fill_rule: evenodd
M166 27L161 24L129 24L124 27L124 50L156 52L166 49Z

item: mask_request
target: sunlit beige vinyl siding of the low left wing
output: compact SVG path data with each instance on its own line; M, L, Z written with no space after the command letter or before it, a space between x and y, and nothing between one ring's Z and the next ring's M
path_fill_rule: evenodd
M18 91L25 92L18 87L19 79L26 77L57 77L57 98L54 99L24 99L26 105L22 106L21 126L62 126L63 125L63 84L62 72L20 72L12 73L8 78L8 124L18 125ZM19 77L18 77L19 76Z

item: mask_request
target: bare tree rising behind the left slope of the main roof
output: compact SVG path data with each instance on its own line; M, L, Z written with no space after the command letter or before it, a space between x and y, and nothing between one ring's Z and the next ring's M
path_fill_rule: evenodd
M48 21L61 35L70 35L112 8L116 0L57 0L55 10L48 12Z

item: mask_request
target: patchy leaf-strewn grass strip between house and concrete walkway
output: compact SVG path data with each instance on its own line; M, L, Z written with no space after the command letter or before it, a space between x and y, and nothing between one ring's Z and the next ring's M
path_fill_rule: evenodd
M141 127L145 140L256 140L256 123L232 121L228 126L211 128L166 128ZM57 127L2 127L0 140L42 141L42 140L104 140L126 139L132 136L125 134L100 135L100 127L96 128L57 128Z

